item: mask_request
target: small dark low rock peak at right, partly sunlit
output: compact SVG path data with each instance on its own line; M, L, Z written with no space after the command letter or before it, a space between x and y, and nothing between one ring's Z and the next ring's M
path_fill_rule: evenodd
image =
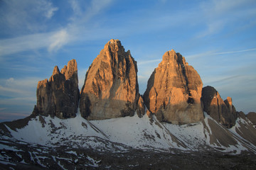
M228 97L225 101L220 97L218 91L212 86L206 86L202 91L203 111L215 119L218 123L225 125L227 128L235 125L238 117L232 98Z

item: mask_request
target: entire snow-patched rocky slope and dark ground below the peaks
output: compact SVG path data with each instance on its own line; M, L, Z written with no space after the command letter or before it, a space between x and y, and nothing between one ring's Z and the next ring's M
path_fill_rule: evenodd
M19 127L16 126L16 121L19 121ZM75 118L69 119L37 115L29 120L16 121L0 124L2 167L255 168L253 152L256 152L256 147L252 143L254 141L251 140L251 133L247 132L248 128L256 134L255 128L252 128L250 120L242 117L231 129L220 125L207 114L201 122L188 125L161 123L154 115L152 118L147 115L139 118L137 114L107 120L86 120L79 113ZM241 159L242 157L247 159ZM218 166L220 162L222 166Z

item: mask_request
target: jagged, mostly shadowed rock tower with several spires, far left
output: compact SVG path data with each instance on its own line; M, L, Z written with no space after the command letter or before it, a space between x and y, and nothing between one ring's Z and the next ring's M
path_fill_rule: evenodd
M78 89L78 65L70 60L68 66L53 69L53 75L38 82L37 103L33 114L51 115L58 118L72 118L78 112L80 98Z

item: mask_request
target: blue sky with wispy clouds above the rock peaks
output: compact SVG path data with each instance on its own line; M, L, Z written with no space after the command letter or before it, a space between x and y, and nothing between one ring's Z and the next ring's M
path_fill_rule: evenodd
M78 62L79 88L92 61L119 39L137 61L144 94L174 49L237 111L256 112L255 0L0 0L0 121L30 115L38 81Z

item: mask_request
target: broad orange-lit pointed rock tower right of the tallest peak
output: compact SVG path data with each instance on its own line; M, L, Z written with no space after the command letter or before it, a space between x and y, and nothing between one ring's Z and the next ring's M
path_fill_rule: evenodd
M163 60L151 74L144 103L160 121L195 123L203 120L202 87L196 70L179 53L171 50L163 55Z

